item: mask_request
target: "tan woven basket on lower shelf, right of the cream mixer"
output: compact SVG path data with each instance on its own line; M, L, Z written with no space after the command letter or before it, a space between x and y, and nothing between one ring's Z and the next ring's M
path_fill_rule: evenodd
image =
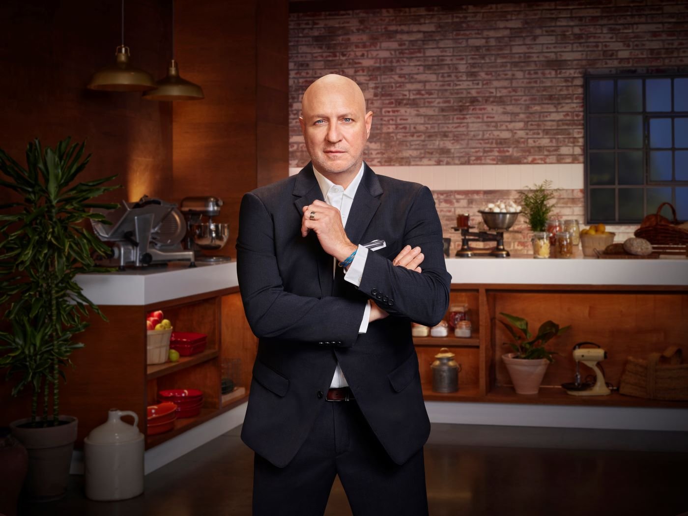
M688 400L688 364L676 346L651 353L647 360L628 357L619 392L650 400Z

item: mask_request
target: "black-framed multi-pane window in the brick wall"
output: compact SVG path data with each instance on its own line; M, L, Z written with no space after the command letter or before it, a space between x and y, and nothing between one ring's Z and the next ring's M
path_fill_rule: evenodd
M663 202L688 219L688 75L585 76L587 221L638 224Z

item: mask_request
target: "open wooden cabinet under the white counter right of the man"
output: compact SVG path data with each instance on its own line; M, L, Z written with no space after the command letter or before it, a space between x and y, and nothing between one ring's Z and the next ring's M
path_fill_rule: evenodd
M471 338L414 338L420 378L426 400L535 403L619 407L688 407L688 402L645 400L623 396L570 396L561 383L574 379L575 344L592 341L603 347L608 358L601 362L605 380L619 387L628 356L646 358L669 345L686 347L688 335L687 286L592 286L533 284L458 284L451 287L452 303L469 305ZM510 336L499 323L499 312L524 317L533 332L551 319L571 329L548 343L557 352L548 367L539 394L519 395L502 363L510 352L504 343ZM462 370L459 390L450 394L433 392L430 365L441 347L455 353ZM688 350L687 350L688 351ZM583 378L592 369L581 364Z

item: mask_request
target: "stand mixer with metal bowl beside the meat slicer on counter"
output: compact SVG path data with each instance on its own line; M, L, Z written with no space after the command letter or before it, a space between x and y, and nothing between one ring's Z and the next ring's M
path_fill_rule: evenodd
M180 211L186 219L186 248L193 250L197 261L231 261L229 256L210 256L204 250L219 250L229 238L229 224L213 222L219 215L222 199L218 197L184 197ZM203 217L208 217L204 222Z

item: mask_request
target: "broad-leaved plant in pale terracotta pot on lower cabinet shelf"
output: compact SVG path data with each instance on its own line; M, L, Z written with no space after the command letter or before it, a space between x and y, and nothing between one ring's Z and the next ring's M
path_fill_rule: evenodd
M509 345L514 352L502 355L502 361L506 365L514 389L517 394L537 394L547 367L554 361L553 355L557 354L549 351L545 344L566 332L570 326L559 327L552 321L545 321L533 336L528 330L526 319L504 312L499 312L499 315L506 319L499 319L499 322L513 337L513 342L504 345Z

